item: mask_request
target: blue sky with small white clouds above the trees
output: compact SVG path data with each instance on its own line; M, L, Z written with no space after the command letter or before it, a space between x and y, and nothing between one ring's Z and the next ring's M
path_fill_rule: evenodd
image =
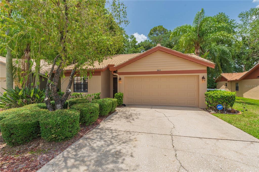
M259 0L250 1L123 1L127 6L130 24L125 28L128 35L134 34L138 42L145 40L149 30L163 25L172 30L183 24L192 24L195 14L204 8L205 14L213 16L226 13L239 21L238 14L259 7ZM143 34L143 35L142 35Z

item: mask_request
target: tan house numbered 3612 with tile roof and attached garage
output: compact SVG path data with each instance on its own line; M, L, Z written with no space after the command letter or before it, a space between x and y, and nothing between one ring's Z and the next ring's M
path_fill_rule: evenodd
M61 78L65 91L74 65L66 68ZM101 92L101 98L124 94L123 102L133 105L161 105L205 108L207 67L215 64L194 54L183 54L156 47L137 54L119 54L95 62L91 78L74 77L71 91L79 93Z

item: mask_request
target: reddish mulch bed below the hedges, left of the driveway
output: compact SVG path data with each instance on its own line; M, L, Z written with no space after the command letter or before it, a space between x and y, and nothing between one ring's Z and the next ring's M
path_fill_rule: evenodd
M100 124L106 117L98 118L90 126L80 125L80 132L74 138L59 143L47 142L38 138L25 145L11 147L3 142L0 133L0 171L37 171L83 137L90 129Z

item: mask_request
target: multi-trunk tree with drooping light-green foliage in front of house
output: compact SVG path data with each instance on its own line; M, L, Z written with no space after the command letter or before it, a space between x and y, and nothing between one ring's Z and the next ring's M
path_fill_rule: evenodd
M12 36L6 37L7 41L30 44L34 59L46 59L52 64L51 71L46 73L49 110L53 110L47 99L49 91L55 108L62 109L76 72L80 70L81 76L87 76L87 67L93 66L94 61L102 62L104 56L115 54L123 45L120 26L128 24L125 6L117 1L13 1L9 8L18 15L4 18L3 27L13 31ZM12 51L20 53L16 46ZM65 94L60 98L58 81L67 66L71 74Z

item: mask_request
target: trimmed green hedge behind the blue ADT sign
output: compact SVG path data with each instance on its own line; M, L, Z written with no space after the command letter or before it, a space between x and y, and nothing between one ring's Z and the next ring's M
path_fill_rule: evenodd
M236 100L236 92L220 90L205 92L204 94L208 109L217 109L218 104L225 105L225 108L228 109L233 107Z

